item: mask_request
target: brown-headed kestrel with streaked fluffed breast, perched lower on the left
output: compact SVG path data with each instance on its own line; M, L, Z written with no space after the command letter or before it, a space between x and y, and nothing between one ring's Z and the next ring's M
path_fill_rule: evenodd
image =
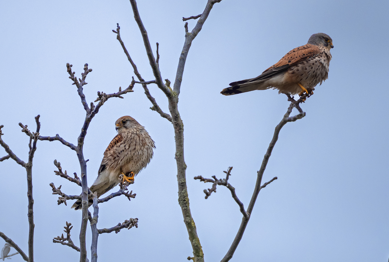
M134 180L134 177L150 163L155 148L149 133L131 116L122 116L115 122L117 135L104 151L104 157L98 170L98 176L89 188L97 196L108 192L119 184L119 175L123 182ZM93 203L89 199L89 206ZM81 200L72 206L81 208Z

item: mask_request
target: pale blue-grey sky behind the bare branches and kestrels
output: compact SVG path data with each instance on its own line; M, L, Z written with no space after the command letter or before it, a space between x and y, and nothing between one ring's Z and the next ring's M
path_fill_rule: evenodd
M163 79L175 77L184 42L182 17L202 13L205 3L138 1L150 41L159 42ZM259 194L231 261L388 259L388 7L388 1L331 0L223 0L214 5L189 51L179 102L189 200L206 261L224 256L242 215L228 189L220 187L205 200L203 189L211 185L193 177L221 177L233 166L229 182L247 206L256 170L289 105L276 90L230 97L219 92L230 82L260 75L319 32L331 36L335 45L329 79L302 105L307 116L281 130L263 177L278 180ZM96 99L97 91L112 93L128 86L134 74L111 31L116 23L143 78L154 79L128 1L2 1L0 12L0 124L4 141L23 160L28 137L18 123L35 129L33 117L38 114L41 135L58 133L76 142L85 116L68 79L67 62L78 77L84 63L93 69L84 88L89 102ZM188 23L191 29L196 21ZM168 111L163 93L156 85L149 88ZM130 217L138 217L139 227L100 235L99 261L187 261L192 251L177 202L173 128L149 109L151 103L140 85L134 90L124 99L106 102L86 136L89 185L120 116L133 116L156 142L154 158L131 185L136 198L100 204L99 228ZM39 141L37 147L35 261L77 261L78 252L52 239L68 221L79 245L81 212L70 210L70 201L68 206L57 206L49 187L54 182L68 194L80 193L78 186L53 172L57 159L68 173L79 174L76 155L59 142ZM26 191L24 168L12 160L0 163L0 231L25 252ZM87 242L88 257L89 246ZM23 260L16 255L12 261Z

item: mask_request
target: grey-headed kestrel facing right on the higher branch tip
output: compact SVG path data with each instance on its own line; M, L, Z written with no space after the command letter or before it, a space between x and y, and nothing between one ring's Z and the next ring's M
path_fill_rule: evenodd
M230 83L223 95L235 95L252 90L278 89L279 93L308 94L307 88L315 87L328 78L332 56L332 39L324 33L311 35L306 45L289 51L276 64L260 76Z

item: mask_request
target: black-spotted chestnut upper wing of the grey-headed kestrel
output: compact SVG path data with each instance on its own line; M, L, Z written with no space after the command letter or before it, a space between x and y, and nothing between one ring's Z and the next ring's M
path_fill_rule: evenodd
M306 44L300 47L296 47L295 49L292 49L289 52L287 52L286 55L280 59L280 61L270 66L270 68L263 71L263 73L265 73L270 69L276 69L279 67L285 67L288 65L292 66L294 64L298 64L302 61L305 61L308 58L320 54L321 52L322 50L317 45Z

